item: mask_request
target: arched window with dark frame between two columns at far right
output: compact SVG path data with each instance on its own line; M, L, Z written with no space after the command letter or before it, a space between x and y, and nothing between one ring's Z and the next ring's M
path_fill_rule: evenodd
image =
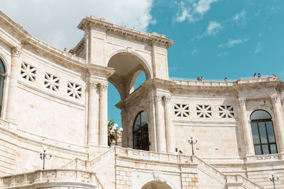
M251 113L251 132L256 155L277 154L271 115L264 110Z

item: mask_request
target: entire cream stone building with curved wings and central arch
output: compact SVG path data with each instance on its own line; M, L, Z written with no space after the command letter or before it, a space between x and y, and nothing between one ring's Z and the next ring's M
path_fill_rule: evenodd
M94 16L77 28L82 40L60 51L0 11L0 188L273 188L271 171L284 188L280 79L170 79L165 35ZM109 82L122 147L107 146Z

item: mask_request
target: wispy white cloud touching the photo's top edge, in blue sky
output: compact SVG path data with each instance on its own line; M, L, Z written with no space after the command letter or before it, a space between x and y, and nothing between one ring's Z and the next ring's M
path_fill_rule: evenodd
M203 18L204 13L209 11L212 3L218 0L189 0L181 1L180 9L178 12L178 17L176 20L178 22L185 21L186 19L190 22L200 21Z

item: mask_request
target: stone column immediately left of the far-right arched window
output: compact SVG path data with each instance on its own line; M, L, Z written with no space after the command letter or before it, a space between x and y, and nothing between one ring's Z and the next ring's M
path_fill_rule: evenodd
M246 156L253 156L255 154L253 147L253 136L251 133L251 125L249 124L249 120L246 115L246 98L239 98L239 105L241 109L241 121L243 125Z

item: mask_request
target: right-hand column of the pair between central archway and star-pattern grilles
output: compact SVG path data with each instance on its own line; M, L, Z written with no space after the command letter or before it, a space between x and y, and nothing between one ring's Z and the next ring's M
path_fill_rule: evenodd
M170 96L164 96L163 101L165 102L165 135L167 141L168 153L175 153L175 128L173 126Z

